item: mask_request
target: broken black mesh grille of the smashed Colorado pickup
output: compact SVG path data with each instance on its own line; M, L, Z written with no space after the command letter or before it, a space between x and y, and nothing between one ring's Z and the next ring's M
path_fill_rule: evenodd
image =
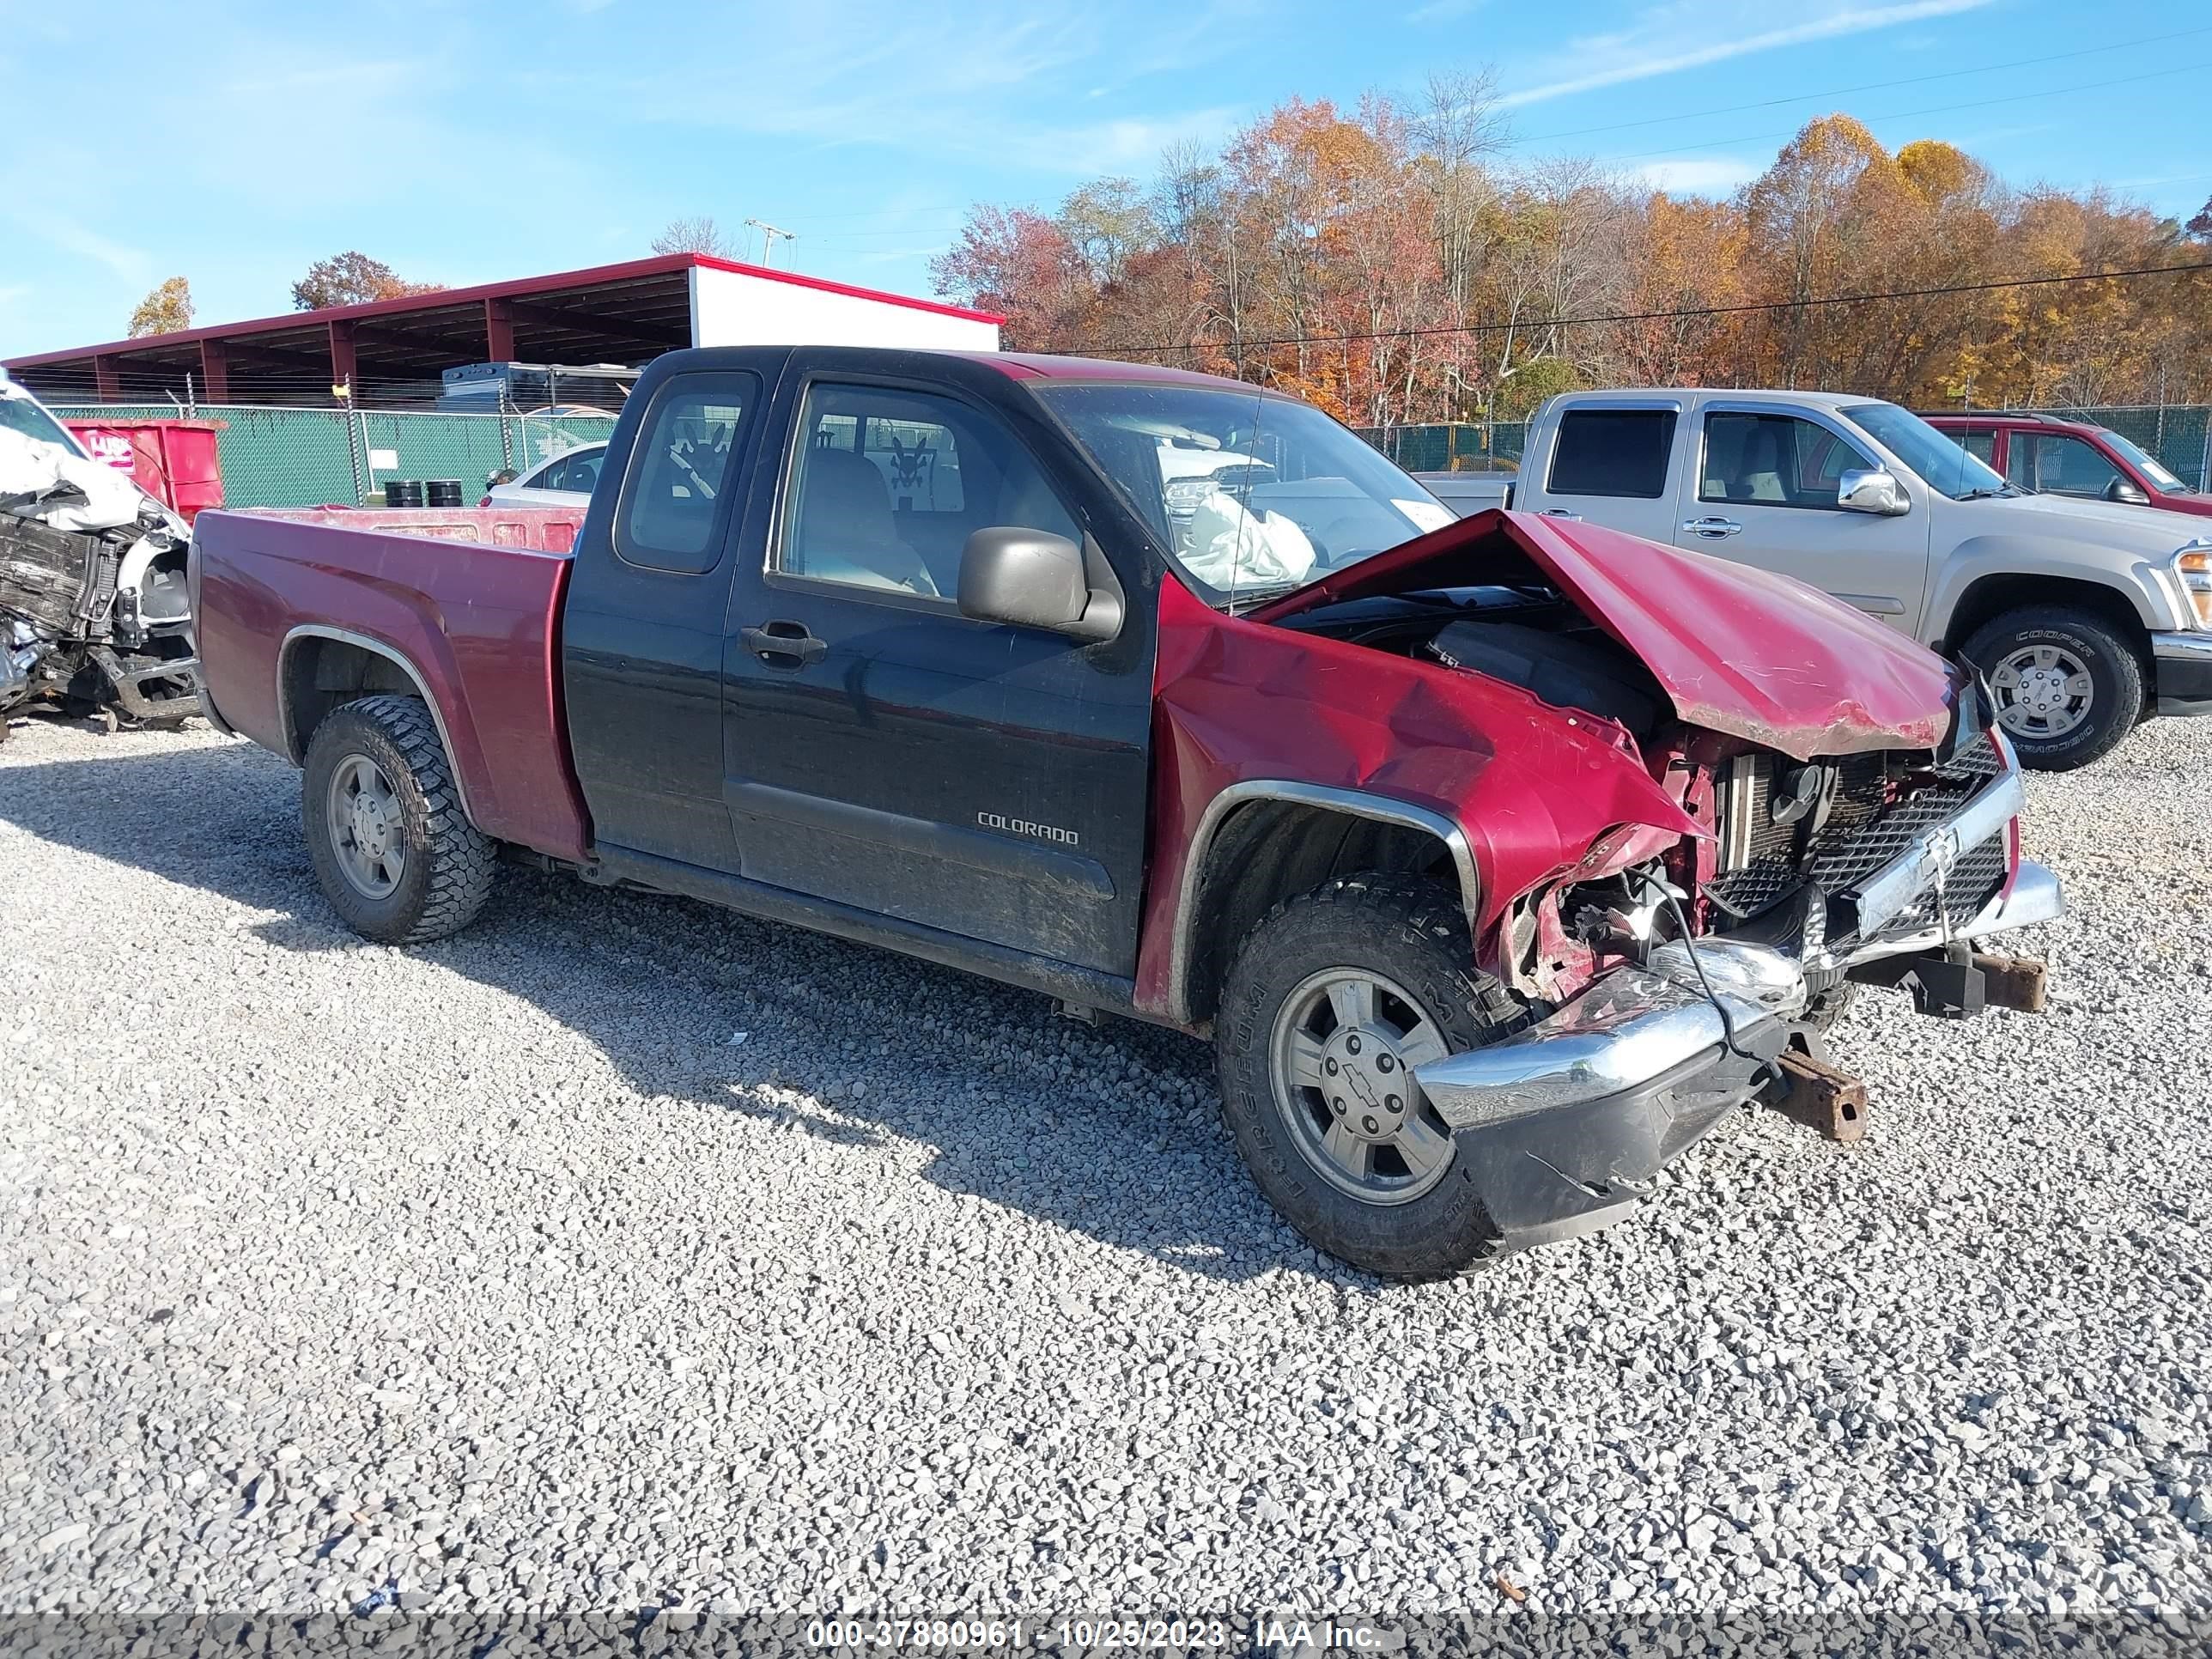
M1772 816L1776 772L1794 779L1796 763L1772 754L1736 757L1721 781L1721 869L1705 885L1708 898L1732 918L1750 920L1807 883L1827 896L1849 891L1902 856L1922 834L1953 818L2004 770L2004 757L1986 734L1964 743L1940 765L1929 761L1929 754L1889 752L1816 763L1823 768L1825 810L1778 825ZM1812 827L1814 821L1818 827ZM2004 863L2002 834L1960 858L1947 896L1951 905L1973 902L1953 922L1973 916L2002 885ZM1927 927L1936 920L1933 905L1936 896L1929 894L1893 927Z

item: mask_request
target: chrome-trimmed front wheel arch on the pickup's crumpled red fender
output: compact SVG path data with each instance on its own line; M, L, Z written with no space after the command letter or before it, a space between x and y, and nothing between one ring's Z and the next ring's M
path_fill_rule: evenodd
M1212 1020L1230 953L1283 898L1354 869L1433 874L1480 918L1482 878L1467 834L1442 812L1367 790L1245 779L1206 803L1183 856L1168 960L1168 1011Z

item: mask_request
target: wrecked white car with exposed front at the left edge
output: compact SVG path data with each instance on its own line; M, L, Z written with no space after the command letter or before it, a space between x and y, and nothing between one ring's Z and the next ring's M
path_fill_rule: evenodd
M199 712L184 520L0 374L0 741L24 708Z

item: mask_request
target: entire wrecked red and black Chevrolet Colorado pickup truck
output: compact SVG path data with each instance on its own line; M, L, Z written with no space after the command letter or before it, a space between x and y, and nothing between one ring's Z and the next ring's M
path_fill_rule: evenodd
M1613 1221L1745 1102L1849 1135L1851 982L2039 1000L1973 945L2059 896L1969 672L1453 522L1234 380L675 352L571 553L349 518L204 513L190 575L354 929L451 933L511 856L1210 1033L1259 1186L1378 1274Z

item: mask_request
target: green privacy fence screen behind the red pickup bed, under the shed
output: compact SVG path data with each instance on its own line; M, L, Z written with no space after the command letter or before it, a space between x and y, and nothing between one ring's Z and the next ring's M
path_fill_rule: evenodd
M62 420L221 420L217 453L228 507L383 502L392 480L453 478L471 507L502 467L518 473L575 445L604 442L608 416L403 414L387 409L265 409L241 405L62 403Z

